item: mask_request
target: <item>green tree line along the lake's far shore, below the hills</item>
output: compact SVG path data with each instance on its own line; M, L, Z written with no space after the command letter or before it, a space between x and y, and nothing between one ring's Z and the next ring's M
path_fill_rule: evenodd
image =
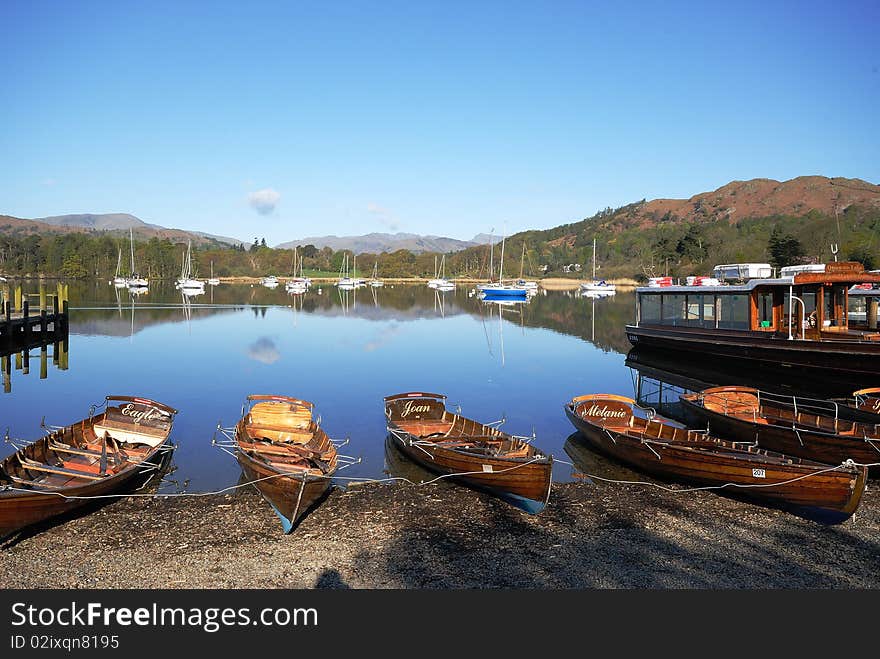
M719 263L758 262L774 266L797 263L859 261L866 270L880 267L880 207L852 205L828 215L773 215L738 221L684 221L663 216L648 224L627 225L629 207L606 209L592 218L540 231L524 231L506 239L503 267L500 246L477 245L445 255L409 250L352 254L349 250L304 245L275 249L255 239L252 245L214 242L192 252L193 274L207 278L292 276L294 268L316 277L338 277L347 263L349 274L369 277L374 269L383 279L428 279L436 276L445 256L445 275L457 280L485 281L499 270L505 277L551 277L606 280L710 274ZM596 253L593 253L593 245ZM112 278L121 261L130 274L127 235L118 233L0 234L0 275L43 273L67 278ZM120 259L120 252L123 258ZM135 269L151 279L173 279L181 271L186 244L156 237L135 241ZM356 273L354 272L356 266Z

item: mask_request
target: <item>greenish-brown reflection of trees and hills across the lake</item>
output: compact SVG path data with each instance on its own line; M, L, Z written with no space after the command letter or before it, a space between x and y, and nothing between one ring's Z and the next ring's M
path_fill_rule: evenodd
M320 294L318 293L320 290ZM422 320L468 314L497 317L497 305L483 302L468 286L435 291L424 285L385 286L340 291L332 284L314 286L302 296L283 288L260 285L208 287L204 294L184 300L170 282L152 285L148 294L134 298L126 289L105 283L71 285L70 331L74 334L129 336L151 325L194 321L215 314L249 310L265 315L267 307L290 307L296 312L364 320ZM602 350L629 349L624 326L632 321L632 294L591 300L577 292L548 292L516 305L522 313L502 313L508 323L550 329L577 336ZM510 307L505 307L505 310Z

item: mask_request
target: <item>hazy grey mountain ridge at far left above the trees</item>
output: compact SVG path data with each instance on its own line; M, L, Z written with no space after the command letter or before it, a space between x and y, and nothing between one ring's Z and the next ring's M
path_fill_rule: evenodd
M174 242L192 240L194 245L240 245L241 240L226 236L215 236L202 231L172 229L158 224L148 224L128 213L80 213L74 215L53 215L25 219L11 215L0 215L0 232L28 236L33 234L64 233L111 233L127 234L129 230L136 238L168 238Z

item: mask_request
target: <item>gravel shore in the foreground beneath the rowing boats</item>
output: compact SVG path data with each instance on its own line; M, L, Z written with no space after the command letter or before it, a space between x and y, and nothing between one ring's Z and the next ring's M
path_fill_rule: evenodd
M6 588L877 588L875 481L822 526L712 492L555 484L528 515L439 482L334 489L291 535L251 488L122 499L0 542Z

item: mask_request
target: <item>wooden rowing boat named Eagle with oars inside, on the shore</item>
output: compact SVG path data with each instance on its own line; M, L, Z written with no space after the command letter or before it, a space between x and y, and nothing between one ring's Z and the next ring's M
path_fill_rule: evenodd
M177 410L134 396L107 396L105 405L103 413L55 429L0 462L0 537L157 473L173 450L168 437Z

